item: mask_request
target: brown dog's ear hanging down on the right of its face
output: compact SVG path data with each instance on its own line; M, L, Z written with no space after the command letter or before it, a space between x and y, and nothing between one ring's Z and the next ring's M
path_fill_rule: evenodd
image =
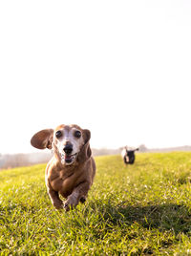
M89 143L89 140L91 138L91 132L85 129L82 131L82 136L84 138L85 143L79 152L78 160L81 162L84 162L85 160L90 159L90 157L92 156L92 150L90 148L90 143Z

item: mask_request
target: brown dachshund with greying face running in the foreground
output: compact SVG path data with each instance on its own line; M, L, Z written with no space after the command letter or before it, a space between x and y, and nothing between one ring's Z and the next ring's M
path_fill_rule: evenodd
M96 175L96 162L92 157L89 140L91 132L78 125L59 125L34 134L33 147L53 150L48 162L45 181L48 194L56 209L73 209L86 201ZM60 196L66 199L64 203Z

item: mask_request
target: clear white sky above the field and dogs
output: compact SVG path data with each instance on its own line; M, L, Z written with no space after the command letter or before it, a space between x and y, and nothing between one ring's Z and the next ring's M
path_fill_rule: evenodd
M191 1L3 0L0 37L0 153L61 123L97 148L191 145Z

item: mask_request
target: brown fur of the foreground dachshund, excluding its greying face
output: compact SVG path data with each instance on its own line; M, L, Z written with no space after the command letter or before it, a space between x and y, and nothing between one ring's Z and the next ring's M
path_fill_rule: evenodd
M71 165L61 162L60 154L56 147L55 132L62 129L77 129L82 134L83 144ZM53 206L57 209L65 208L67 211L79 202L84 203L88 191L93 184L96 174L96 163L92 157L89 140L91 133L77 125L59 125L54 131L46 129L36 133L31 140L32 146L44 149L53 148L53 158L47 164L45 181ZM66 202L59 195L66 198Z

